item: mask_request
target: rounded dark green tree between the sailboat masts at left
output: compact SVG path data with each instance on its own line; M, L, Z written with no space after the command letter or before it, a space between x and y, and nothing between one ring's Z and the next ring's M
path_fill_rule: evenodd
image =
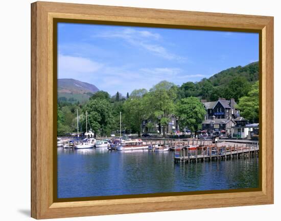
M109 135L114 120L109 101L91 99L83 108L83 112L86 111L93 131L102 136Z

